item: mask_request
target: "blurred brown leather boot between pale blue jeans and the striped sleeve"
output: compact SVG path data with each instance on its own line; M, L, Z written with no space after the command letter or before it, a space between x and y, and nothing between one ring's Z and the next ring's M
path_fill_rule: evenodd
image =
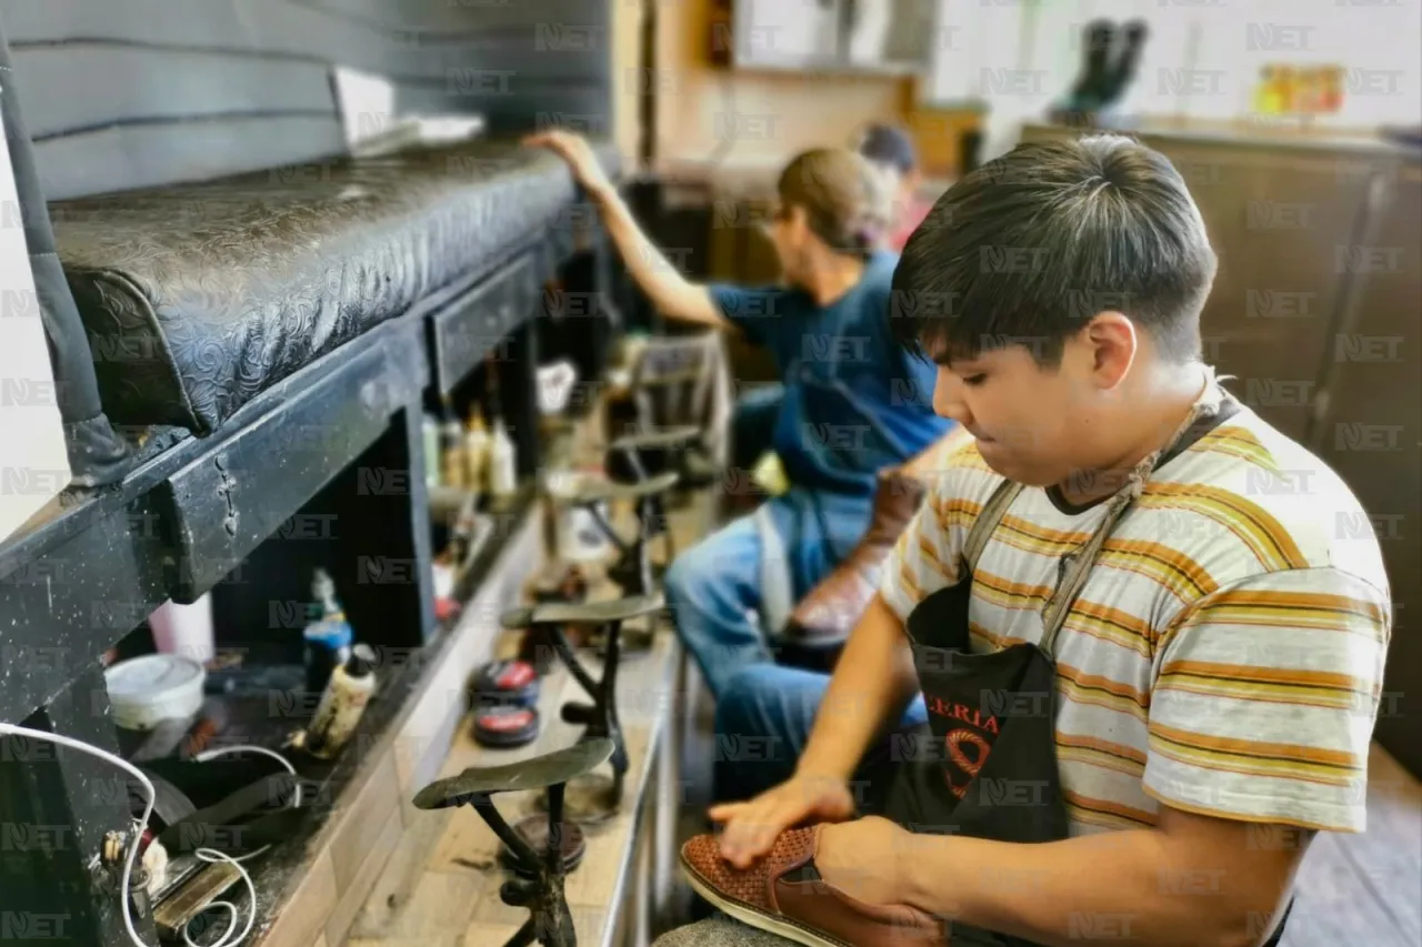
M859 545L791 613L785 638L809 648L845 643L879 590L884 560L919 512L927 488L899 468L880 471L873 516Z

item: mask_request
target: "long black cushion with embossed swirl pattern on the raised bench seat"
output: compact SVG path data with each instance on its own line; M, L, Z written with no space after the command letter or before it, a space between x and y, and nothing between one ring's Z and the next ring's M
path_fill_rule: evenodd
M560 159L462 142L50 206L105 411L203 435L565 213Z

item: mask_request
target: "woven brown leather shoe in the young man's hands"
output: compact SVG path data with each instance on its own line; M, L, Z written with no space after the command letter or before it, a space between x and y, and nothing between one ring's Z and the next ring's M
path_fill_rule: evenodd
M907 904L857 901L820 880L813 869L822 826L781 833L775 847L747 870L721 857L717 836L681 846L687 880L701 897L751 927L808 947L947 947L944 926Z

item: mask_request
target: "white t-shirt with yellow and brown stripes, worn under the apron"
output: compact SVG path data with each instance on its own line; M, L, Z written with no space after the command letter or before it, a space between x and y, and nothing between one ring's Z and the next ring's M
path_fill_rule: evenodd
M1003 482L944 461L884 569L900 619L957 582ZM983 549L971 647L1037 643L1058 560L1105 515L1027 488ZM1057 638L1057 754L1074 835L1158 805L1361 832L1391 601L1357 498L1249 408L1167 461L1126 510Z

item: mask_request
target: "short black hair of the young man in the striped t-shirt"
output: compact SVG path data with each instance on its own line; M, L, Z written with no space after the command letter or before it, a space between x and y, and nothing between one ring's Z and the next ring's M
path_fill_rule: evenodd
M1034 142L958 181L904 246L894 334L937 358L1014 343L1049 367L1099 311L1199 357L1216 257L1170 161L1121 135Z

